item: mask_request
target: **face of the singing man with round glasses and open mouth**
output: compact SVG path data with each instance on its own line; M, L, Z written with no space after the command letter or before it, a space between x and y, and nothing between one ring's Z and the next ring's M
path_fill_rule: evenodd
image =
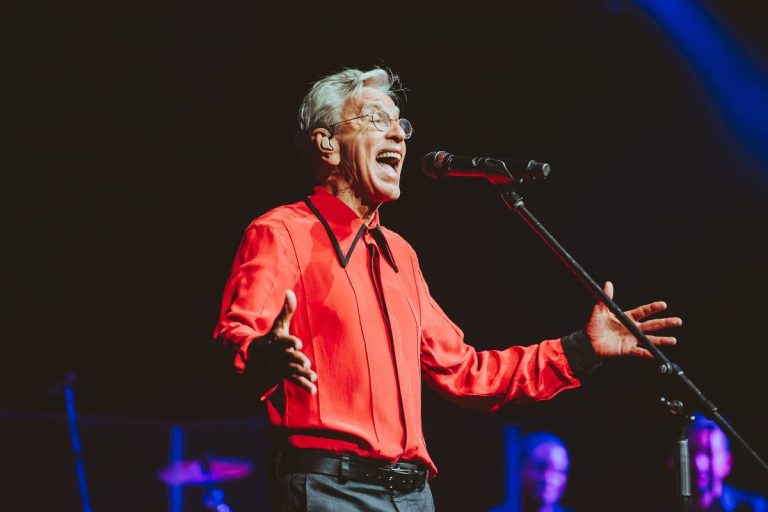
M365 87L359 98L344 105L341 119L386 112L393 120L385 131L370 117L339 124L334 138L339 146L339 167L351 181L354 194L367 206L400 197L400 172L405 158L405 132L397 123L400 110L387 94Z

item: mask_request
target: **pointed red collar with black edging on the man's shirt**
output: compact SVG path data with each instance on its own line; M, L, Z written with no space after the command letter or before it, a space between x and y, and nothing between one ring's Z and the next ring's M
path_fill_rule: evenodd
M373 213L370 223L366 225L352 208L319 185L315 187L315 193L307 197L304 202L328 233L342 267L347 266L357 242L368 228L384 258L397 272L394 256L379 225L378 209Z

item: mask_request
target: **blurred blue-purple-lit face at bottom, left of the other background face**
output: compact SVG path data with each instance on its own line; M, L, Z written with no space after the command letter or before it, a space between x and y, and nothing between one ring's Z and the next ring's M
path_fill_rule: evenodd
M558 502L568 479L568 452L554 443L537 446L520 468L525 499L542 505Z

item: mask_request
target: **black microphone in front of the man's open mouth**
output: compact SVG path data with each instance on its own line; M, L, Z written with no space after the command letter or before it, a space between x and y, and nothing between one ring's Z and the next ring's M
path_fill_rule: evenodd
M432 151L421 159L421 170L436 180L450 177L485 178L494 184L525 180L543 180L552 170L549 164L534 160L457 156L446 151Z

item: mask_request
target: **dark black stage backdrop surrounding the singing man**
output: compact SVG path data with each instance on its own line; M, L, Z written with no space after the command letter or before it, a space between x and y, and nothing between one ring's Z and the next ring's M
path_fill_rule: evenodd
M766 7L702 5L764 69ZM402 197L382 220L416 248L470 343L559 337L584 325L593 299L490 184L432 181L421 156L549 162L550 178L521 191L528 208L596 281L614 282L619 305L664 299L683 317L665 353L768 456L768 141L748 145L686 55L629 3L410 9L268 14L227 0L11 20L0 408L15 497L77 508L56 387L68 371L81 415L132 425L85 428L86 461L103 468L91 482L100 510L165 507L151 477L167 426L260 418L211 341L231 259L252 218L310 190L292 147L309 84L373 65L401 76L416 129ZM611 361L579 390L494 415L425 394L441 510L503 500L507 423L566 439L579 510L651 510L671 481L673 430L657 402L678 394L647 361ZM226 438L208 448L260 453L224 449ZM733 482L768 492L735 452Z

